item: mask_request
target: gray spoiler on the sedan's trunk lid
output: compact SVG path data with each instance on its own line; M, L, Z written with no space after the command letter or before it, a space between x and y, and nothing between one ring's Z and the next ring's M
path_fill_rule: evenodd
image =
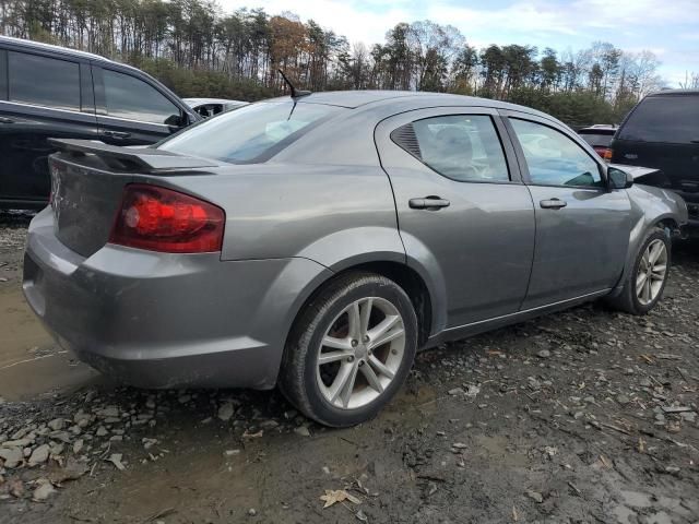
M109 167L120 170L158 172L215 167L218 165L215 160L178 155L169 151L152 147L121 147L96 140L48 139L48 142L58 147L59 151L67 152L73 156L96 155Z

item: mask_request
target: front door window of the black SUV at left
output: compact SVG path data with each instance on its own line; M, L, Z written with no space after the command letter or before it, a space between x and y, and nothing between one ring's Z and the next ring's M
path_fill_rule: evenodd
M103 71L105 102L110 117L152 123L179 122L180 109L155 87L129 74Z

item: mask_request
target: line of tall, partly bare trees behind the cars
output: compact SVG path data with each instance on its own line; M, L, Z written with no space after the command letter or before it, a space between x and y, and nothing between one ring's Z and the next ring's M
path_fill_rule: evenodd
M300 88L418 90L513 102L571 126L618 123L662 87L650 51L596 41L588 49L521 44L476 49L467 27L430 21L351 43L292 12L225 12L213 0L0 0L0 33L133 64L180 96L256 100ZM465 35L464 35L465 33Z

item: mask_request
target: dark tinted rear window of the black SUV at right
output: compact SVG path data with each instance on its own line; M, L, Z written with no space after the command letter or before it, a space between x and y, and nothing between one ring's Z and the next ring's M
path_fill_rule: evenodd
M619 140L687 144L699 140L699 96L650 96L631 112Z

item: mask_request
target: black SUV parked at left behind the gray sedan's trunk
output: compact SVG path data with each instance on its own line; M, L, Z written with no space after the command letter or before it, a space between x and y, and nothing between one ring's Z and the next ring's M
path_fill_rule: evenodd
M151 144L200 119L138 69L0 37L0 209L47 204L48 138Z

